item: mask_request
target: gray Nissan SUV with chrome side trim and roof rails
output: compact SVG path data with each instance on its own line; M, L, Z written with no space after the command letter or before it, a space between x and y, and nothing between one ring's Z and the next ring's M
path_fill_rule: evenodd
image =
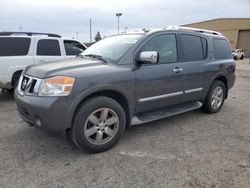
M79 148L102 152L131 125L198 108L217 113L234 81L221 33L144 29L105 38L72 60L27 67L15 99L29 125L69 131Z

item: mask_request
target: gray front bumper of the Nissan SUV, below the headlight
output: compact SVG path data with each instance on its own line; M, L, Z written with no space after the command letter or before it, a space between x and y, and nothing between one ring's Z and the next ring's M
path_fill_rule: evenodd
M52 132L65 131L71 127L71 99L26 96L15 90L15 100L21 118L29 125Z

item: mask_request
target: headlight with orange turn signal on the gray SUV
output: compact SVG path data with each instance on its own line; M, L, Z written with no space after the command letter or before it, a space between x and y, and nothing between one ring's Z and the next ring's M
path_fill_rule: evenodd
M42 80L38 96L67 96L70 94L75 78L55 76Z

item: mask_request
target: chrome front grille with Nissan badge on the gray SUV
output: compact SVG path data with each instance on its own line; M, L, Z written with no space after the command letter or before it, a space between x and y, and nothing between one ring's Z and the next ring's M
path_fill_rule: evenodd
M22 95L36 95L39 91L40 83L41 79L23 74L19 79L18 92Z

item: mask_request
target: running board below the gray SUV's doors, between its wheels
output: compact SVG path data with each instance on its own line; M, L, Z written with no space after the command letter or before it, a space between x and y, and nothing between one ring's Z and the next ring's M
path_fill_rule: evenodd
M202 106L202 103L200 101L196 101L196 102L189 102L185 104L171 106L171 107L167 107L167 108L152 111L152 112L142 113L132 118L131 125L139 125L142 123L147 123L150 121L155 121L158 119L174 116L177 114L181 114L184 112L198 109L201 106Z

